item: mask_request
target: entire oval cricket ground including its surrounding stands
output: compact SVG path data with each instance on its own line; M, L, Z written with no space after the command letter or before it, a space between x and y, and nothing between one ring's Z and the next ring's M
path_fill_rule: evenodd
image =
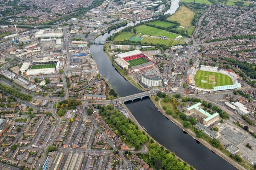
M191 67L187 73L187 83L201 91L224 91L239 89L238 75L232 70L218 70L218 67L203 66L200 69Z

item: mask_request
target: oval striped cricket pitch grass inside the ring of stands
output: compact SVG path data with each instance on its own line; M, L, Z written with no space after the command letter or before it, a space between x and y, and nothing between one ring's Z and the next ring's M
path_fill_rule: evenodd
M205 82L202 82L205 81ZM213 85L213 82L216 82ZM195 85L199 88L213 89L213 86L232 85L232 79L224 74L199 70L195 74Z

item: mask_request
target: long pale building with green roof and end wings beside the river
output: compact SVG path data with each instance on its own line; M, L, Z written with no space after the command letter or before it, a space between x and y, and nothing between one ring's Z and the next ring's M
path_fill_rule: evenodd
M208 127L219 120L219 113L215 112L213 115L201 108L202 103L194 104L187 108L186 115L196 115L202 119L203 124Z

